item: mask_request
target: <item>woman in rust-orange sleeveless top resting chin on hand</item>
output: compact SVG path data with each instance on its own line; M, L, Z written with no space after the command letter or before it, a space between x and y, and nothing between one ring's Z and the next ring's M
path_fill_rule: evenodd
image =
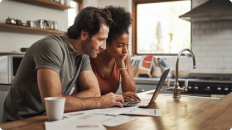
M131 74L131 58L129 47L129 27L132 24L131 14L123 7L107 6L114 21L106 40L106 49L101 51L97 58L90 58L90 63L95 73L101 95L109 92L116 93L120 84L122 96L128 100L140 100L134 94L135 81Z

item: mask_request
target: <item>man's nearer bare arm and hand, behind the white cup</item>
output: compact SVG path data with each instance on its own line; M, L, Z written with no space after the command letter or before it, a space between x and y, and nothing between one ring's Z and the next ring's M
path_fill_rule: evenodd
M41 68L37 70L37 80L41 101L44 108L45 97L65 97L65 112L79 111L93 108L107 108L114 105L122 106L123 97L109 93L99 98L77 98L68 95L62 95L62 87L59 74L51 69Z

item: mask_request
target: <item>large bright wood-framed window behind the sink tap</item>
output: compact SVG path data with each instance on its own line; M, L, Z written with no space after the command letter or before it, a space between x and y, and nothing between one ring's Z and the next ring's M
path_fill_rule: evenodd
M191 10L191 1L150 1L133 3L133 54L173 55L191 49L191 23L179 19Z

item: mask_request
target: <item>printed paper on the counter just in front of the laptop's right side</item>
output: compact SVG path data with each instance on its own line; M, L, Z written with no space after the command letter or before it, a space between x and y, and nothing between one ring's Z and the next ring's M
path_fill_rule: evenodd
M144 115L144 116L162 116L160 109L143 109L143 108L135 108L130 112L123 113L126 115Z

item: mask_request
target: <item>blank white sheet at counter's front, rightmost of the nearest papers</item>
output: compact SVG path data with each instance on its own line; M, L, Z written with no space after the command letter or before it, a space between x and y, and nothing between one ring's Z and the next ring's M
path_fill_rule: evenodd
M109 126L109 127L113 127L113 126L118 126L130 121L136 120L136 118L132 118L129 116L115 116L114 118L111 118L107 121L102 122L102 124L104 126Z

